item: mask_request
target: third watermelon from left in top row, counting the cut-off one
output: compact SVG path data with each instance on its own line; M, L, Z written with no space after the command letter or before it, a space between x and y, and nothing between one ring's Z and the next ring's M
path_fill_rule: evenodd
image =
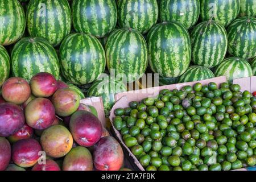
M77 32L102 38L117 24L117 5L114 0L74 0L72 17Z

